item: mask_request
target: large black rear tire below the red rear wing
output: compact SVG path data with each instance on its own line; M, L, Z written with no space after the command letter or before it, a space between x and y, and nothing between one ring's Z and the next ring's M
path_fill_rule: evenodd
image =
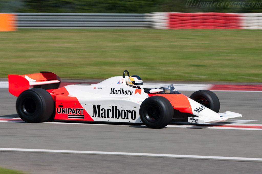
M19 117L27 123L48 120L54 112L53 97L44 89L32 88L22 92L16 102Z

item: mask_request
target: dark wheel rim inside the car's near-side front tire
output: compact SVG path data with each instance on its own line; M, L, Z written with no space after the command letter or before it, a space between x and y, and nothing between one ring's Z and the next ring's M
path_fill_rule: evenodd
M160 118L160 107L155 104L149 104L146 106L144 114L149 122L154 123Z

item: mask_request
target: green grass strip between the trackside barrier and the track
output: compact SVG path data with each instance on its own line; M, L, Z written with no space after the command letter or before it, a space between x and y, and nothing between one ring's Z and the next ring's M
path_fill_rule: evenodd
M24 29L0 32L0 77L262 81L262 30Z

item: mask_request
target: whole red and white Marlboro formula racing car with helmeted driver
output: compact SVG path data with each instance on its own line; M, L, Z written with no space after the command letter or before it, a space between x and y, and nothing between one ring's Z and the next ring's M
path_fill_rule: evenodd
M81 83L62 88L58 88L61 79L51 72L8 75L8 81L9 92L18 96L17 113L28 123L96 121L162 128L176 119L204 124L242 117L230 111L218 113L220 102L214 92L200 90L187 97L172 84L146 87L139 76L129 76L127 70L123 76L97 84Z

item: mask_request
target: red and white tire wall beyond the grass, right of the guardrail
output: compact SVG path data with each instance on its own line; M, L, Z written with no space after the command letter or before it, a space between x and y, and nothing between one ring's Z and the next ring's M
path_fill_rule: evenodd
M262 29L262 13L152 13L155 29Z

